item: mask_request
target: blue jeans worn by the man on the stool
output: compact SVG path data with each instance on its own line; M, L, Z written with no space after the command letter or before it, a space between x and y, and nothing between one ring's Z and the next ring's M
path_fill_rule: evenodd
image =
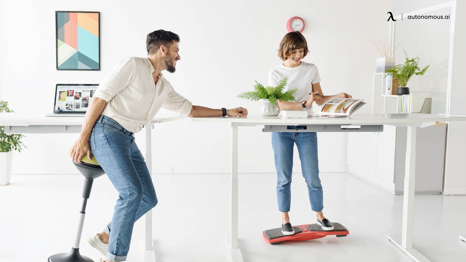
M134 222L157 205L154 184L134 134L110 117L100 116L89 138L92 154L119 193L112 221L107 259L125 261ZM110 234L111 232L111 234Z

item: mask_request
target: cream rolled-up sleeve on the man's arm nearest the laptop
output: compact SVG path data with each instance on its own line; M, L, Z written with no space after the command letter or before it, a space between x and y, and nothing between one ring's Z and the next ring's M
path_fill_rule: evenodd
M109 102L115 95L130 83L131 76L135 71L136 62L134 57L128 57L117 63L110 74L99 84L93 97L99 97Z

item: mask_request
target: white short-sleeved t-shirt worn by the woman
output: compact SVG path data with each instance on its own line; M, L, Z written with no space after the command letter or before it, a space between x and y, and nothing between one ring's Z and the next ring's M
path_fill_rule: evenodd
M297 67L286 67L283 64L270 69L268 72L268 85L277 86L278 81L287 77L286 90L297 88L295 93L296 102L301 102L309 99L309 93L312 93L312 84L320 82L319 70L315 64L302 62ZM308 116L313 115L312 105L305 108L308 111Z

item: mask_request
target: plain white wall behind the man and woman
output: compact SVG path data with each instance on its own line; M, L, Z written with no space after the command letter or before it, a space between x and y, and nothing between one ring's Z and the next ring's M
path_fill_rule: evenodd
M284 4L289 6L284 6ZM145 56L145 36L163 28L180 35L177 72L166 73L194 104L245 107L260 103L235 96L267 83L280 64L276 49L286 22L300 16L324 94L347 92L369 103L377 50L371 40L387 37L390 0L309 1L1 1L0 99L17 112L48 113L56 83L100 83L125 56ZM55 70L55 12L101 12L101 71ZM240 172L274 172L270 133L240 128ZM322 172L346 171L347 136L319 133ZM144 132L136 135L144 153ZM30 134L15 152L13 173L76 172L66 156L76 134ZM154 172L229 172L230 129L223 124L168 123L153 131ZM54 161L50 165L50 161ZM295 170L299 170L295 152Z

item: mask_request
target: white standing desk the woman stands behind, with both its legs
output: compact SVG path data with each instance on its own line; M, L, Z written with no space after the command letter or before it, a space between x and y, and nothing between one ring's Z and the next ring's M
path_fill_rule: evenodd
M427 262L424 255L412 248L414 223L414 167L416 160L416 127L426 127L435 122L466 121L466 116L433 115L433 114L366 114L352 115L351 117L304 119L281 117L194 117L191 121L224 122L232 127L232 178L231 178L231 230L229 236L229 249L233 262L242 262L240 247L238 246L238 127L264 125L265 132L295 131L288 130L287 125L306 125L306 130L316 132L359 132L382 131L383 125L407 126L406 167L404 176L403 196L403 222L401 242L387 235L413 260Z

